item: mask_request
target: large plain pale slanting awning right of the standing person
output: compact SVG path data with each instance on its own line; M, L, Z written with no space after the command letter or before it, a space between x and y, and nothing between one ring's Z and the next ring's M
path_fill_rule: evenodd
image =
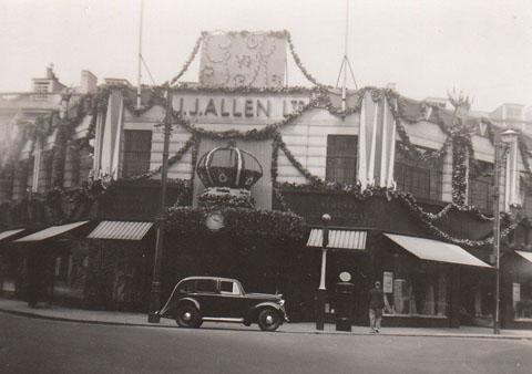
M407 237L403 235L387 233L385 236L405 248L421 260L467 264L470 267L491 268L464 249L448 242Z

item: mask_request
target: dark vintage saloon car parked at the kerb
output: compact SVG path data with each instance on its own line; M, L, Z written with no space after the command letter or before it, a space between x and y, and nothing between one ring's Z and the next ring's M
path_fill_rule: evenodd
M247 293L235 279L190 277L174 288L160 316L175 319L182 328L200 328L203 322L258 323L263 331L275 331L285 321L280 294Z

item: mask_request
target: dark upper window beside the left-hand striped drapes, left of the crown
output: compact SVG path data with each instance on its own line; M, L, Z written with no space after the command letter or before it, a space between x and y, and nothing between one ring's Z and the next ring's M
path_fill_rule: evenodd
M122 176L124 178L150 172L152 156L151 131L124 131Z

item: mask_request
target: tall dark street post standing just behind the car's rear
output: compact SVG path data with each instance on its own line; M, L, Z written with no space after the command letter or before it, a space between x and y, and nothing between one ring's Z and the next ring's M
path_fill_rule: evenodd
M161 169L161 206L158 214L157 238L155 241L155 257L153 264L152 289L150 291L150 313L147 315L149 323L158 323L161 316L158 310L161 308L161 266L163 261L163 242L164 228L166 224L166 179L168 175L168 149L170 135L172 133L172 96L170 89L166 90L166 113L164 116L163 132L163 165Z

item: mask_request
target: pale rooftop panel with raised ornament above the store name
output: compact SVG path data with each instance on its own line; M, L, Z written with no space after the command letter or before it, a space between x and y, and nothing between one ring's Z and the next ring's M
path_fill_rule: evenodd
M280 87L285 81L285 33L208 33L202 45L200 83L228 87Z

